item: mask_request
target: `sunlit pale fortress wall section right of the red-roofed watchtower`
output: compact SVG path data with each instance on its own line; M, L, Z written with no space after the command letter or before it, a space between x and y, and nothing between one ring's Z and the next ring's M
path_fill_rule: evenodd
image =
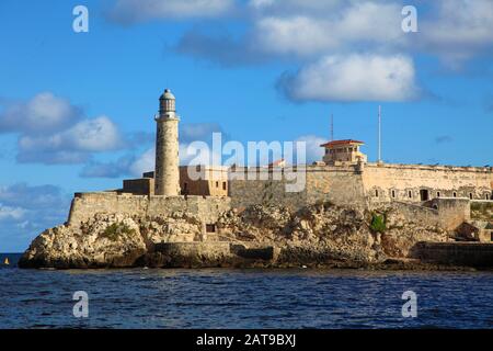
M405 202L420 202L420 190L428 190L429 199L437 197L437 192L440 197L452 197L456 192L457 197L469 199L472 193L473 199L485 199L486 194L491 196L493 171L473 167L367 163L363 183L370 203L391 201L392 190L393 200Z

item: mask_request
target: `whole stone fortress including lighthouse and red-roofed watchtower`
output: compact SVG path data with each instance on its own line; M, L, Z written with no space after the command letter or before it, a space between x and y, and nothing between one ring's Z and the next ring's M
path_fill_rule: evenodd
M167 89L159 101L156 170L140 179L124 180L118 190L76 193L69 223L87 220L101 212L152 216L184 211L202 218L202 239L207 240L214 237L222 213L253 204L296 210L321 202L366 208L392 203L410 217L447 229L470 222L471 207L493 205L493 167L368 162L359 149L364 143L353 139L321 145L325 150L322 160L294 167L306 178L299 192L285 191L289 178L282 161L260 167L193 166L200 177L192 180L187 167L180 166L175 98ZM266 177L244 177L249 172L264 172ZM475 230L478 240L491 241L491 224L485 223L471 230Z

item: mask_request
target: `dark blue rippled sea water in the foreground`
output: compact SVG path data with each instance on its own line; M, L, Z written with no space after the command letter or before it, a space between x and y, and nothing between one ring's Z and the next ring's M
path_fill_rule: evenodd
M54 271L21 270L9 257L0 328L493 327L493 272ZM76 292L87 293L87 318L73 314ZM415 293L416 317L403 316L404 292Z

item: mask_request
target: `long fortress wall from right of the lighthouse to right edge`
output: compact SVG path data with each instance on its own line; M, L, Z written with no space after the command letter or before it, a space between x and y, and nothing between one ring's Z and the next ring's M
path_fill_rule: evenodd
M367 163L358 172L355 167L308 166L306 188L299 193L286 192L288 181L284 178L236 180L242 169L230 173L229 195L236 207L271 202L297 208L320 201L369 207L391 201L417 204L422 202L421 190L427 190L428 199L437 197L438 192L440 199L454 197L456 193L457 200L469 199L470 194L473 199L486 199L486 195L491 199L492 194L491 168ZM463 217L460 208L452 208L448 214L443 213L448 217L447 223L454 222L451 214Z

